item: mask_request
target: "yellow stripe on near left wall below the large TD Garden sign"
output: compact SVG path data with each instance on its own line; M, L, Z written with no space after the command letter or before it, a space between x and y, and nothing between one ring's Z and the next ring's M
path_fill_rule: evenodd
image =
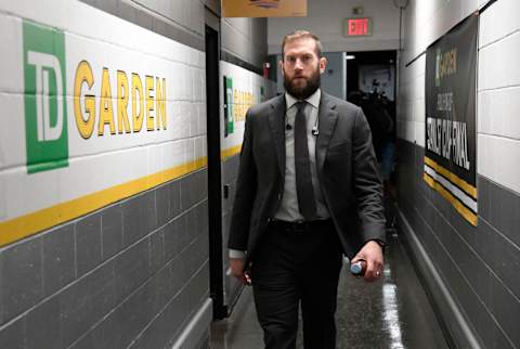
M207 166L207 163L208 159L206 156L200 157L191 163L1 222L0 246L34 235L54 225L84 216L109 204L202 169Z

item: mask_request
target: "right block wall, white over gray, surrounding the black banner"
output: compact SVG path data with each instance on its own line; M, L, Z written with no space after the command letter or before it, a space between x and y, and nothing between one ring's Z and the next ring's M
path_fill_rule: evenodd
M520 54L520 23L514 14L520 11L518 1L491 2L480 14L478 225L468 224L422 180L426 60L421 52L486 2L411 1L406 9L398 104L400 223L454 345L517 348L520 139L514 115L520 111L516 99L520 75L514 61Z

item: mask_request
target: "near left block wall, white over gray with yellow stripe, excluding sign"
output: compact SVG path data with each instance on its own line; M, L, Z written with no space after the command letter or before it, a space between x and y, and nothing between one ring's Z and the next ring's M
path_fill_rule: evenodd
M0 5L8 77L0 100L13 126L0 131L0 348L207 348L204 3L84 2ZM67 42L70 159L36 174L27 173L18 132L26 94L20 28L27 21ZM80 60L92 66L98 106L101 67L113 88L118 69L143 82L145 75L165 78L168 127L78 137L68 81ZM32 219L39 210L52 223ZM11 223L18 219L27 225ZM44 228L31 231L34 222ZM16 237L12 227L28 230Z

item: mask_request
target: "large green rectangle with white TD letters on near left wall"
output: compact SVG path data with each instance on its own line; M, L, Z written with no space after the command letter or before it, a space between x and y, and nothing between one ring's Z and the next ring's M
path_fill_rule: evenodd
M65 37L24 22L27 172L68 166Z

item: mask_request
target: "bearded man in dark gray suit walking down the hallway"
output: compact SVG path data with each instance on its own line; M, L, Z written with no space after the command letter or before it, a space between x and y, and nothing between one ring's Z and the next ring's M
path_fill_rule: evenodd
M301 302L306 349L332 349L341 254L365 281L382 272L381 184L363 112L320 89L318 38L291 33L282 54L286 93L246 116L231 270L252 283L266 348L295 348Z

